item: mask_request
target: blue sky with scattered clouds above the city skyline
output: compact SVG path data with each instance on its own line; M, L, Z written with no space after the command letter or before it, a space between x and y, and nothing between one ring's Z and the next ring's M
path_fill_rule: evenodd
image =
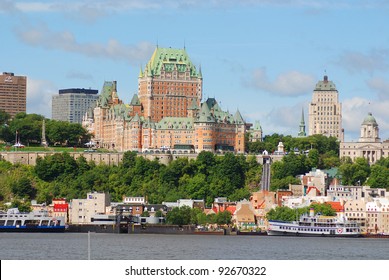
M346 141L369 112L389 138L389 1L0 0L0 72L27 76L27 113L51 118L59 89L117 81L125 103L157 46L186 49L203 100L239 110L263 134L297 136L324 75Z

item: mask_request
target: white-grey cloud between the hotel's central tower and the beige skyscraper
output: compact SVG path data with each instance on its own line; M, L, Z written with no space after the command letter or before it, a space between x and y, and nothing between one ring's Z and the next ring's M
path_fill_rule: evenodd
M310 93L315 85L315 79L311 75L290 71L270 81L266 68L263 67L253 71L251 80L245 84L271 94L293 97Z

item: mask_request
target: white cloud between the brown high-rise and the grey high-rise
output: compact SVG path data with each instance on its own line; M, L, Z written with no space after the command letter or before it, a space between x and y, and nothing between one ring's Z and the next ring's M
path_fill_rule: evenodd
M51 118L51 100L55 94L58 94L58 89L51 82L28 78L27 113Z

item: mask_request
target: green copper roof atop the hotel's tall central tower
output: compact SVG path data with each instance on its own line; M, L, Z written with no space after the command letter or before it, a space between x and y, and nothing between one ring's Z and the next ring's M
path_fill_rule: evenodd
M145 74L150 77L159 76L163 68L167 72L172 72L175 68L178 72L189 71L191 77L201 78L200 72L196 70L185 49L158 47L147 63L144 73L141 71L140 75L141 77Z

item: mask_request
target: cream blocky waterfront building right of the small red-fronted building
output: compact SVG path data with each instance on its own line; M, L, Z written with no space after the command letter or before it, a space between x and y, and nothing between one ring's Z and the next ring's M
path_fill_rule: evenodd
M109 194L90 192L86 199L72 199L70 201L70 223L90 224L97 214L105 214L111 204Z

